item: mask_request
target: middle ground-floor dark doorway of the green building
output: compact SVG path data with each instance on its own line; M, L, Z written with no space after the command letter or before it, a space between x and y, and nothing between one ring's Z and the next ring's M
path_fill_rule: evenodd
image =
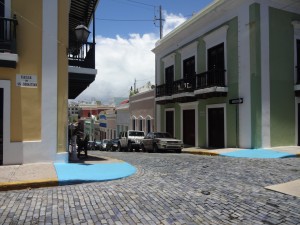
M183 110L183 143L195 146L195 110Z

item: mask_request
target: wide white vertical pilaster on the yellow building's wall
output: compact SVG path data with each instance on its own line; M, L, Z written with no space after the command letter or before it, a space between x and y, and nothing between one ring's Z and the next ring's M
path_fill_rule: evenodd
M51 155L57 151L57 1L43 1L42 146Z

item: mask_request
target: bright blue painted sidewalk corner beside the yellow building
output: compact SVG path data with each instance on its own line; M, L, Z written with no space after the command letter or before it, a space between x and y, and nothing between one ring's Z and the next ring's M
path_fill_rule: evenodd
M59 185L99 182L128 177L136 172L129 163L54 163Z

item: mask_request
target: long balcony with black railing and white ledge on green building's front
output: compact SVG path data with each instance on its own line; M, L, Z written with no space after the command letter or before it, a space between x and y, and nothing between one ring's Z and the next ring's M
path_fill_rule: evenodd
M227 96L226 70L211 70L156 86L156 102L191 102L197 99Z

